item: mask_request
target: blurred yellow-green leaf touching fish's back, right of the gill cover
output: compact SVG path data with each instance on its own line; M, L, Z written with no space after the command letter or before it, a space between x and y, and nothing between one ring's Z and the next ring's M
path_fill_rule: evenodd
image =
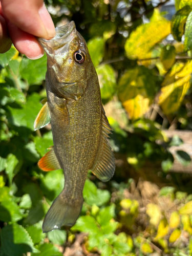
M104 103L108 102L115 94L116 78L115 71L110 65L101 65L96 68L101 89L101 98Z

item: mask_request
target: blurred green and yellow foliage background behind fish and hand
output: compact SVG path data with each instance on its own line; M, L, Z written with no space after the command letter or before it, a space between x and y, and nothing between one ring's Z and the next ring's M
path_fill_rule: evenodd
M70 230L42 233L62 170L38 160L51 124L34 132L47 57L0 55L1 256L192 255L192 2L47 0L55 26L86 39L113 129L116 172L88 174Z

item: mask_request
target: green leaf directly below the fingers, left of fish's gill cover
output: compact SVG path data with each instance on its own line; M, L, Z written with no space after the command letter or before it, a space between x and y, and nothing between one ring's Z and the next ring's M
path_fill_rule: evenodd
M45 79L47 71L46 54L40 59L23 58L20 64L20 75L23 79L28 80L29 84L41 84Z

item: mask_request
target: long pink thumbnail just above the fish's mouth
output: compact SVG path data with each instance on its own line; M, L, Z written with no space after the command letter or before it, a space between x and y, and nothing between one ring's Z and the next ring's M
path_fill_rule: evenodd
M53 38L55 36L55 26L45 4L39 9L39 15L47 31L46 39Z

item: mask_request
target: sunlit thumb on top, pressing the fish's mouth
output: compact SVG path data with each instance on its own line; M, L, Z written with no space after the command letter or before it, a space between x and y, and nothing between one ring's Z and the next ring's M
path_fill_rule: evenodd
M43 0L1 0L3 14L21 30L45 39L55 36L51 16Z

